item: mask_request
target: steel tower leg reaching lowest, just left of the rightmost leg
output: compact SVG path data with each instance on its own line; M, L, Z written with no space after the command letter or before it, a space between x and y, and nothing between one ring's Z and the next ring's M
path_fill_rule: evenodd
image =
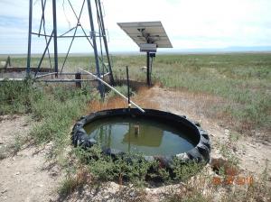
M90 38L92 39L92 43L93 43L97 76L98 76L98 78L100 78L99 63L98 63L98 50L97 50L97 43L96 43L96 32L95 32L94 23L93 23L93 15L92 15L90 0L87 0L87 2L88 2L88 7L89 7L89 9L88 9L89 10L89 23L90 23L90 29L91 29ZM99 80L98 80L98 91L100 93L100 96L102 98L104 98L104 87Z

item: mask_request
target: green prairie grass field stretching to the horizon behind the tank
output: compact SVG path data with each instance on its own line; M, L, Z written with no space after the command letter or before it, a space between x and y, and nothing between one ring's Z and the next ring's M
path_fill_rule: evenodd
M59 68L64 58L60 59ZM145 82L145 55L112 57L114 77ZM33 67L39 58L33 58ZM13 58L12 66L24 67L25 58ZM64 71L79 68L95 72L95 60L87 56L71 56ZM50 67L44 60L42 67ZM185 89L222 98L210 106L218 118L228 119L240 133L271 129L271 53L182 54L159 55L154 58L152 81L174 90Z

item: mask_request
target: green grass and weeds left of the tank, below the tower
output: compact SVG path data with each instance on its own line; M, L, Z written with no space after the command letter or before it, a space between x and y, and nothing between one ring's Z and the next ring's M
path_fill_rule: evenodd
M37 86L31 80L0 83L0 114L25 114L33 117L30 132L38 143L53 143L54 154L70 144L70 127L94 98L87 89L69 86ZM95 94L97 95L97 94Z

